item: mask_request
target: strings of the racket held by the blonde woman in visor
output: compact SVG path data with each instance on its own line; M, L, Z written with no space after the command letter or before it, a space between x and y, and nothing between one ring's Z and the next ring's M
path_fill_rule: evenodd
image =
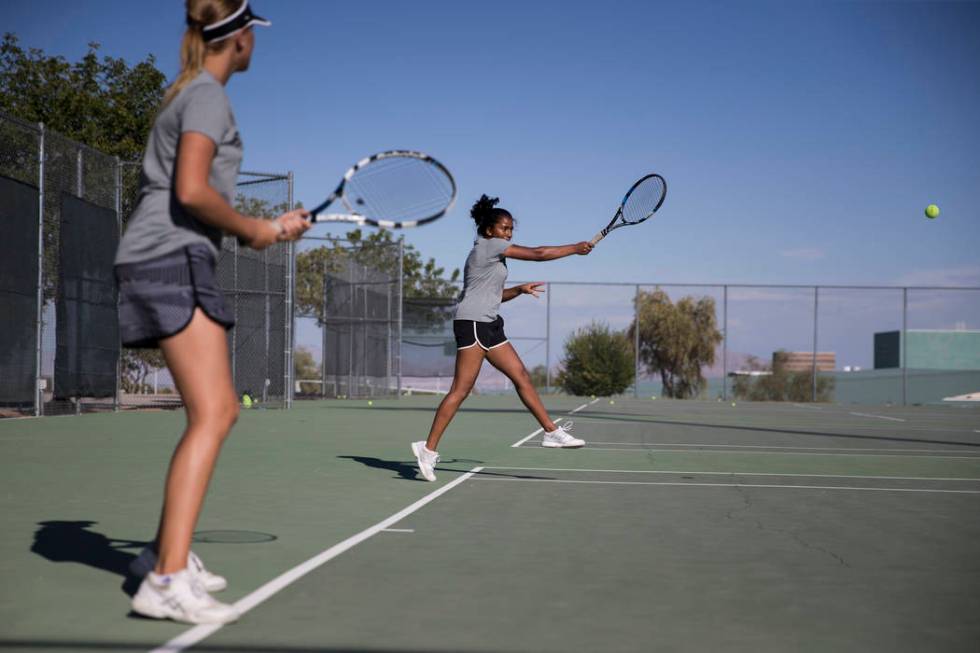
M345 203L378 220L420 220L444 211L454 197L452 180L422 159L375 161L348 181Z

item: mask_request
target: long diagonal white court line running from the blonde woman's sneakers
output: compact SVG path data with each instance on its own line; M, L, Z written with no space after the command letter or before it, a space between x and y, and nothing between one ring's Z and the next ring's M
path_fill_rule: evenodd
M339 542L333 545L329 549L322 551L321 553L318 553L317 555L313 556L306 562L303 562L293 567L289 571L285 572L284 574L281 574L276 578L273 578L268 583L258 588L251 594L239 599L238 602L234 604L235 608L238 610L240 614L245 614L255 606L259 605L263 601L266 601L267 599L272 597L277 592L285 589L286 587L296 582L306 574L315 570L317 567L323 565L324 563L328 562L332 558L336 558L344 551L354 548L364 540L370 538L373 535L378 534L380 531L387 529L392 524L398 523L399 521L401 521L405 517L408 517L422 506L437 499L438 497L442 496L443 494L453 489L460 483L463 483L467 479L471 478L474 474L481 471L482 469L483 467L474 467L473 469L463 474L459 478L456 478L450 481L449 483L446 483L438 490L434 492L430 492L429 494L425 495L424 497L422 497L412 505L408 506L407 508L403 508L402 510L399 510L391 517L388 517L387 519L378 522L377 524L371 526L370 528L366 528L365 530L361 531L357 535L348 537L343 542ZM187 630L183 634L173 638L163 646L153 649L150 653L177 653L178 651L183 651L185 648L194 646L205 637L211 636L213 633L220 630L221 627L222 627L221 624L208 624L202 626L194 626L190 630Z

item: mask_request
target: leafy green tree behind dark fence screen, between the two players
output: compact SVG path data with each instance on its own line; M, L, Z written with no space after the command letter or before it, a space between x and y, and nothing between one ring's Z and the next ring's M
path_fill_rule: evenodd
M349 260L397 278L398 241L388 230L365 236L354 229L347 233L347 242L337 239L297 254L296 308L300 313L315 316L322 325L324 275L342 273ZM406 323L413 327L442 326L459 294L459 270L453 270L449 279L443 278L444 273L435 259L425 261L413 245L404 246L402 301Z

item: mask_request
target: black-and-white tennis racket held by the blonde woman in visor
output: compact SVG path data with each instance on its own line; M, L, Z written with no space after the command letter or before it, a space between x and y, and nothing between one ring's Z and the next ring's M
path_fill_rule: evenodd
M389 150L354 164L310 219L405 229L438 220L455 200L456 181L446 166L422 152ZM342 212L328 213L334 204Z

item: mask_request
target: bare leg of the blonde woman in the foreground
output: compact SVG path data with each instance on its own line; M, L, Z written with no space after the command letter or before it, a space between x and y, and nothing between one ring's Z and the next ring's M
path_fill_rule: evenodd
M156 572L169 574L187 566L218 452L238 418L238 399L225 329L200 307L183 331L160 341L160 348L187 412L187 427L170 460L157 535Z

